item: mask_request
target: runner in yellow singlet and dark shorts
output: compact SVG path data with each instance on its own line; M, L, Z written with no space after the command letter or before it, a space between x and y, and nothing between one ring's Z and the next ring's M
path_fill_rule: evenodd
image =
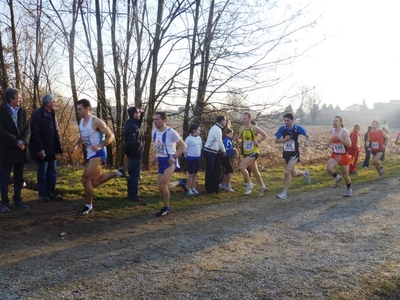
M244 159L239 165L239 170L242 172L244 181L246 184L245 195L251 193L253 189L253 185L250 183L249 172L247 171L247 167L250 167L251 172L257 179L257 182L260 184L261 189L259 192L259 196L263 196L264 192L268 190L265 186L261 174L257 168L257 158L260 153L259 145L262 141L267 138L267 134L258 126L251 124L252 115L250 112L244 112L242 115L242 123L243 126L239 129L239 135L236 136L236 141L241 141L242 145L242 154L244 155ZM258 135L261 137L258 139Z

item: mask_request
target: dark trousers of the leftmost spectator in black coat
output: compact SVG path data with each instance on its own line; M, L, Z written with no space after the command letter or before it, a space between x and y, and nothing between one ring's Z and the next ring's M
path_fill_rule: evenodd
M24 163L16 164L2 164L0 167L0 191L1 191L1 204L8 205L10 199L8 198L8 182L10 180L11 170L14 167L14 202L22 200L21 190L24 184Z

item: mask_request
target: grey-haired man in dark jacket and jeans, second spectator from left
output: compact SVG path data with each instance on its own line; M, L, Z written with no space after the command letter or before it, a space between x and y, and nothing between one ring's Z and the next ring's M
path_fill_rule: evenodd
M61 201L62 197L54 194L57 181L56 155L62 153L57 118L54 113L57 104L53 95L42 98L42 106L31 119L31 139L29 151L37 163L37 184L39 201Z

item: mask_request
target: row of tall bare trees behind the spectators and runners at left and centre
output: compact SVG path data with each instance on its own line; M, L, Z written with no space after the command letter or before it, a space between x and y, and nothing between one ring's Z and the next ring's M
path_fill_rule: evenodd
M108 149L110 165L123 163L130 104L147 112L145 166L152 116L160 106L183 103L187 132L191 122L206 122L227 99L234 99L230 108L236 110L275 105L249 101L247 95L283 80L277 69L313 46L300 50L295 40L317 19L309 5L282 8L259 0L5 0L0 5L1 89L21 89L28 111L45 93L66 97L60 123L70 122L78 99L94 99L97 116L116 136L115 148Z

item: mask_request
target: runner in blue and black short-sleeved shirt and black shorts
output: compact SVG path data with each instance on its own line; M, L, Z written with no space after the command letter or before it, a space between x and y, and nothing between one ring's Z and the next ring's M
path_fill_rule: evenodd
M303 176L307 184L311 182L310 171L302 172L295 169L296 163L300 162L299 136L304 135L306 137L304 146L308 147L310 135L302 126L294 124L293 114L285 114L283 120L285 121L285 125L279 127L278 131L275 133L275 142L277 144L283 143L283 159L286 162L285 182L282 193L276 196L279 199L286 200L292 177Z

